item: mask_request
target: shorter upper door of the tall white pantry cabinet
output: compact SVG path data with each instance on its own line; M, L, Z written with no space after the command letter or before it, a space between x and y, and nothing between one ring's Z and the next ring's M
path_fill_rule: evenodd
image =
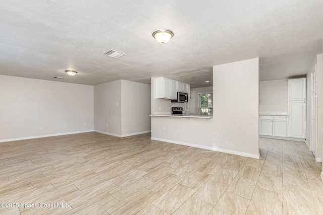
M306 79L288 80L288 100L306 100Z

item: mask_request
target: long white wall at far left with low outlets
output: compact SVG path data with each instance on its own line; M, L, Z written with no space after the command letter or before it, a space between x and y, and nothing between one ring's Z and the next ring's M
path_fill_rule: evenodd
M93 86L0 75L0 87L0 141L93 131Z

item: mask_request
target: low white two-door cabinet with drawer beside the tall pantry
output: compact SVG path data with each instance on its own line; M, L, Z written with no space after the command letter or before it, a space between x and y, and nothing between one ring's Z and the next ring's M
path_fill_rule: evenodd
M259 134L286 137L286 116L260 115Z

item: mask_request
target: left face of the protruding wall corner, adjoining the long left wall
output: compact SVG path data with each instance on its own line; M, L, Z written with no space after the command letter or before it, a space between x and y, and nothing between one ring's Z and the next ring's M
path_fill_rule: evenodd
M121 80L94 86L94 130L121 136Z

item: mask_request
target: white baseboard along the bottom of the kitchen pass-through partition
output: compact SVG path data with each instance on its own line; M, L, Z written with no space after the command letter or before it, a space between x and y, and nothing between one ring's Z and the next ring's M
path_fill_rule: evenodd
M181 142L181 141L175 141L175 140L169 140L169 139L161 139L161 138L156 138L156 137L150 137L150 139L163 141L163 142L170 142L171 144L179 144L179 145L183 145L183 146L187 146L187 147L195 147L195 148L204 149L204 150L211 150L211 151L215 151L215 152L223 152L223 153L228 153L228 154L232 154L232 155L239 155L239 156L243 156L243 157L256 158L256 159L260 158L259 154L254 155L254 154L249 154L249 153L237 152L237 151L232 151L232 150L224 150L224 149L201 146L201 145L196 145L196 144L189 144L187 142Z

